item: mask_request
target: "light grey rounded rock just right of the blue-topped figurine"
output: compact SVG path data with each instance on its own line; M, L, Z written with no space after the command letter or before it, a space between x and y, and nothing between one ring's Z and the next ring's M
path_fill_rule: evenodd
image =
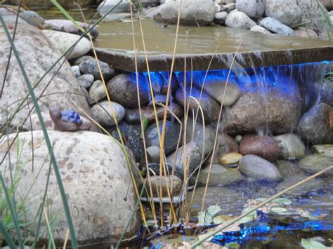
M115 118L119 123L124 119L125 116L125 108L122 105L119 105L116 102L111 102L113 112L115 113ZM115 119L113 118L109 102L107 100L97 103L91 107L91 112L96 117L96 120L102 126L113 126L115 125Z

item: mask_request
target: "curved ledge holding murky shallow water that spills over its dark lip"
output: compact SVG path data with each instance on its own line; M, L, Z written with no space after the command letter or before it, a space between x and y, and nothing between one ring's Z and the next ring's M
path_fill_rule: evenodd
M150 71L169 71L174 51L176 27L143 20L145 47ZM131 22L106 22L96 41L98 58L115 69L135 72ZM134 22L138 71L147 72L138 21ZM241 67L295 65L333 60L333 42L292 36L261 34L228 27L180 27L174 71L228 69Z

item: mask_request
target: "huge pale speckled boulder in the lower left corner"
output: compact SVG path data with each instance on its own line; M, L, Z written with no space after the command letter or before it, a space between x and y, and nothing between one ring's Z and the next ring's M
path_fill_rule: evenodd
M70 133L53 130L48 131L48 136L53 144L53 153L58 162L67 201L70 208L75 206L72 209L72 220L79 245L103 243L110 239L117 241L130 220L125 237L130 238L136 234L140 224L138 214L132 216L136 210L136 194L124 152L117 142L107 135L89 131ZM9 135L9 142L13 141L14 137L15 134ZM30 238L37 236L34 234L35 217L44 195L50 165L43 132L34 131L33 137L32 140L30 132L20 133L22 152L19 161L15 156L11 156L9 164L7 155L1 165L7 173L4 179L8 185L11 179L8 175L9 165L13 170L23 167L16 193L20 196L27 195L29 208L25 209L25 217L28 219L25 231ZM0 143L1 158L5 156L7 146L6 138ZM11 155L15 154L16 149L14 145ZM57 215L57 222L53 224L53 238L56 245L63 246L68 224L53 167L47 196L48 205L52 205L52 213ZM47 229L44 218L40 229ZM40 239L47 244L48 233L41 233Z

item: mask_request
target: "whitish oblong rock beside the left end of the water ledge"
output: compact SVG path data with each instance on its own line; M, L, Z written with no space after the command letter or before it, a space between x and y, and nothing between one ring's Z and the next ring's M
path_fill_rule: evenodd
M58 32L54 30L41 30L41 32L51 41L53 48L58 49L61 53L65 53L77 40L80 39L80 36L77 34L68 34L64 32ZM73 51L68 55L67 60L79 58L82 55L85 55L91 50L91 43L88 39L82 38L77 46L74 47Z

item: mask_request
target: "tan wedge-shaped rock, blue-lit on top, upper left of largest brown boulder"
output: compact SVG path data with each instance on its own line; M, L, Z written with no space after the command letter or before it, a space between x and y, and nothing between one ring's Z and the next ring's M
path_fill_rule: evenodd
M194 83L199 89L202 88L202 83L199 83L196 80L194 80ZM223 93L225 89L226 95L224 95L223 99ZM214 97L214 99L220 104L223 103L223 106L225 107L233 105L238 97L240 97L241 93L237 83L229 81L227 84L226 81L215 78L206 79L204 83L204 91L211 95L211 97Z

